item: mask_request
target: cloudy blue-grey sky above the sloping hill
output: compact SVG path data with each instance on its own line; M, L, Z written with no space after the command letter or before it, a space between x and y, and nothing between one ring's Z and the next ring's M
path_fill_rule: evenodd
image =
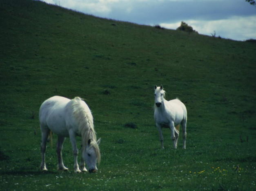
M98 17L176 29L184 21L200 34L256 39L256 6L245 0L41 0Z

